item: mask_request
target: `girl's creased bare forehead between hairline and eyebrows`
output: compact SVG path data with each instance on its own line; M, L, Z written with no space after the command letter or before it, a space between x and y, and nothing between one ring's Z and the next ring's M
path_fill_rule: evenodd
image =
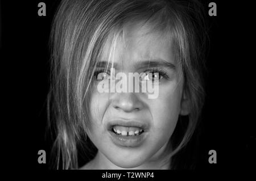
M130 23L120 33L111 33L101 54L101 60L122 64L153 59L174 63L171 36L142 23Z

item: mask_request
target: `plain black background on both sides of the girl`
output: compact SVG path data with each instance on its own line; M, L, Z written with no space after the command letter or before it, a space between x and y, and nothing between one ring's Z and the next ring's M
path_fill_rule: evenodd
M38 3L46 16L38 16ZM211 1L203 1L205 11ZM255 39L253 6L213 1L217 16L207 16L210 48L207 99L200 137L199 169L253 169L255 160ZM44 140L49 88L48 40L59 1L1 1L2 159L9 168L47 169L38 150ZM209 164L208 151L217 151Z

